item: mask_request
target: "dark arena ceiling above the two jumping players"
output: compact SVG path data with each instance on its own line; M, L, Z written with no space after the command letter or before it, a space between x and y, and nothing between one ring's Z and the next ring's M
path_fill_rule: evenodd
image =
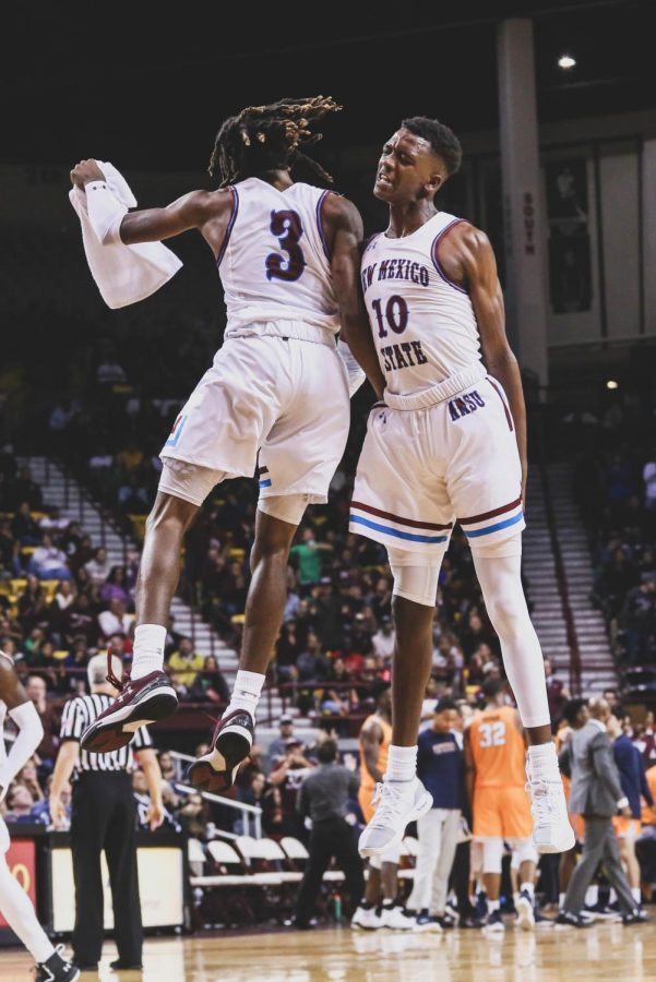
M496 32L532 16L540 121L653 109L656 59L635 0L300 4L13 4L2 16L0 163L81 156L202 170L244 105L330 94L326 149L383 140L403 116L498 125ZM563 71L558 57L571 53Z

